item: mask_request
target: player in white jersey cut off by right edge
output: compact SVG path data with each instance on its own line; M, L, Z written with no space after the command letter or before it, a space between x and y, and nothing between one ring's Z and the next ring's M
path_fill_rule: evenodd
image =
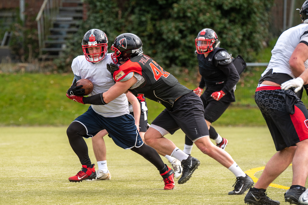
M267 197L265 191L291 163L292 186L284 195L285 201L300 204L298 199L306 190L308 111L300 98L304 81L305 84L308 83L308 74L303 77L308 67L307 11L308 0L300 12L303 23L286 30L278 38L272 50L270 64L261 75L256 89L255 101L270 129L278 152L266 164L259 180L245 196L244 201L247 204L280 204L279 201Z

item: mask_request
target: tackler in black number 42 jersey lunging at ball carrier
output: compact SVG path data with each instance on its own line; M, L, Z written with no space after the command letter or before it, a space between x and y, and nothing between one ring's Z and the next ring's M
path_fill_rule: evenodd
M181 161L183 174L178 183L190 179L200 162L188 156L164 137L182 129L187 136L204 153L228 168L237 177L236 191L229 194L243 194L253 185L253 180L239 168L232 157L223 149L215 146L209 139L209 130L204 120L204 108L201 99L192 90L181 85L170 73L162 69L152 58L143 54L142 42L135 34L121 34L111 47L115 64L107 69L116 81L107 92L91 96L89 100L97 104L107 104L117 96L132 92L163 104L166 109L153 120L145 133L148 145L159 152L175 157ZM87 97L88 98L88 97ZM83 97L75 97L83 102ZM240 177L245 175L245 177Z

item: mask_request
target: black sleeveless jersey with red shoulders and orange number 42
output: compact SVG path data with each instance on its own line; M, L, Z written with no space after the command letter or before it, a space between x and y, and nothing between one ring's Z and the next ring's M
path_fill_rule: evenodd
M129 89L135 96L144 97L161 103L168 110L171 110L175 100L192 90L181 85L179 81L170 73L162 69L152 58L146 55L132 57L119 70L113 74L113 79L117 82L123 79L128 73L136 72L144 77L145 82L135 89Z

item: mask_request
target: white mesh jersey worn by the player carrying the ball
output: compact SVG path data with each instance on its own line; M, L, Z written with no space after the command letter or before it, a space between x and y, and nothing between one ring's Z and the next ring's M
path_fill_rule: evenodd
M86 60L85 56L77 56L72 63L72 70L76 76L86 78L92 81L93 91L89 95L95 95L106 92L112 85L115 84L111 73L107 70L107 63L112 63L111 54L99 61L91 63ZM128 100L125 94L120 95L106 105L91 105L93 110L104 117L117 117L129 114Z

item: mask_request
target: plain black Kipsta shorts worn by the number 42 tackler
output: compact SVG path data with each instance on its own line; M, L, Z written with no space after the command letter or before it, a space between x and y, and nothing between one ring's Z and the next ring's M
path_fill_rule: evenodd
M201 137L209 136L208 126L204 120L202 101L194 92L187 93L177 99L171 111L164 109L153 120L151 127L158 130L163 136L168 132L173 134L176 130L182 129L193 142ZM164 130L159 130L159 128Z

